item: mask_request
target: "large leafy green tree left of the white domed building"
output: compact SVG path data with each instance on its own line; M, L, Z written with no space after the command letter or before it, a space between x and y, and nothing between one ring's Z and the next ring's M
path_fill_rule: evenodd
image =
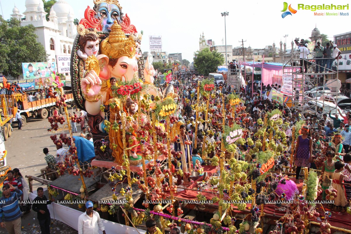
M0 16L0 71L14 77L22 74L22 62L46 62L45 48L37 42L33 25L20 26L14 18Z

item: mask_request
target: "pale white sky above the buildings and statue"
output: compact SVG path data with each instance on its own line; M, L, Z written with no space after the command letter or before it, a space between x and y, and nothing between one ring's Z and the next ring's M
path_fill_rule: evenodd
M287 0L285 0L287 1ZM0 0L4 18L8 19L14 4L21 13L25 11L25 0ZM74 18L82 18L88 5L93 0L66 0L74 9ZM350 10L315 11L318 13L349 13L349 16L315 16L310 10L298 10L297 4L308 5L346 5L350 1L291 1L296 14L282 18L284 0L271 1L227 1L227 0L120 0L122 12L130 16L131 22L140 32L144 31L142 49L148 51L148 35L161 35L163 51L182 53L183 59L192 61L193 53L199 49L199 36L204 32L206 39L212 39L216 45L224 41L224 17L221 12L228 11L226 17L227 45L241 46L241 39L246 40L244 46L264 48L273 41L279 46L287 37L287 48L295 37L308 38L317 25L321 33L327 34L332 40L336 34L351 31L347 27L351 21ZM1 12L0 12L1 13ZM2 13L1 13L2 14ZM240 42L239 42L240 41Z

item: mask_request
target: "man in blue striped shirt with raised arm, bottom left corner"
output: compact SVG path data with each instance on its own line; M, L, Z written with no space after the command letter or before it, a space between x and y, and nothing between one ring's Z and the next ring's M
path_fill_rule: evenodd
M11 192L14 190L14 192ZM9 234L21 234L22 212L18 205L18 199L23 194L21 190L7 183L2 187L0 198L0 227L6 228Z

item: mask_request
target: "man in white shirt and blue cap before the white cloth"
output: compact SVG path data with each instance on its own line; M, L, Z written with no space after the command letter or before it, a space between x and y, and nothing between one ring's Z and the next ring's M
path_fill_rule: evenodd
M78 234L98 234L99 229L103 234L106 234L99 213L93 210L93 202L87 201L85 207L86 212L78 218Z

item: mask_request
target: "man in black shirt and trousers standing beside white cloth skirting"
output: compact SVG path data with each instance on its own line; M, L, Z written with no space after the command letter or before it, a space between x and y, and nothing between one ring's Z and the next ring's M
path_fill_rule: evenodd
M38 196L34 199L32 209L38 213L37 218L39 220L41 234L50 234L51 218L47 205L51 204L55 199L48 201L44 195L44 189L42 187L37 188L37 193Z

